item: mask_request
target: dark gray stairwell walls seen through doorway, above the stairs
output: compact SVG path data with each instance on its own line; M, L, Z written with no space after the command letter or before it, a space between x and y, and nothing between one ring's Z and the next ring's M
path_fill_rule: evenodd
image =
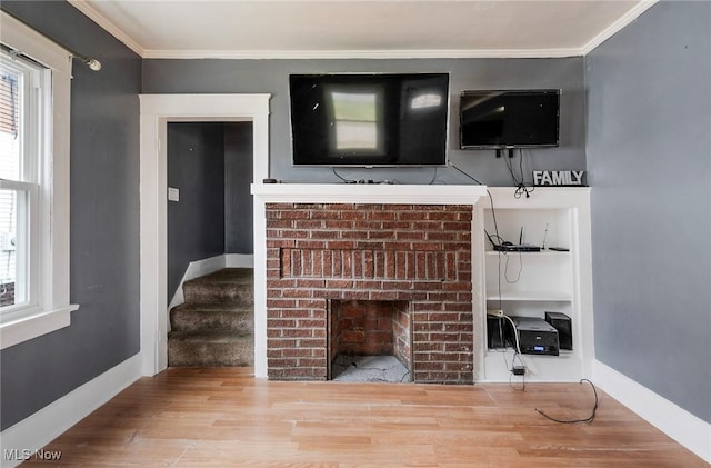
M253 255L252 122L168 122L168 300L190 262Z

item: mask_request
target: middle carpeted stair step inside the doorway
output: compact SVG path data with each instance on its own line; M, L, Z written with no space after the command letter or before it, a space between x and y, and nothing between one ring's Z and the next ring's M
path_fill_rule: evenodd
M170 311L170 328L173 331L254 331L254 305L249 302L193 303L186 302Z

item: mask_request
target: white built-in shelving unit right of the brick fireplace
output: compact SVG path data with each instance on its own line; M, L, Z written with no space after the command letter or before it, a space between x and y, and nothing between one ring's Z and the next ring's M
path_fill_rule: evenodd
M590 374L593 357L590 189L537 187L517 198L512 187L490 187L474 216L474 330L479 381L510 381L513 349L489 349L487 309L509 316L571 318L573 349L559 356L523 355L527 381L577 381ZM493 209L492 209L493 202ZM495 222L494 222L495 218ZM523 231L521 239L521 230ZM532 243L539 252L499 252L484 231L500 241ZM562 247L568 251L550 250ZM519 362L517 362L519 364ZM514 377L514 381L520 377Z

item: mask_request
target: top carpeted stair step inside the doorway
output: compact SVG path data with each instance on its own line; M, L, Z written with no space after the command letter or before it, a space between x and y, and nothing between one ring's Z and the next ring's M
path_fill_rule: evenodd
M226 268L182 285L186 302L252 302L254 271L251 268Z

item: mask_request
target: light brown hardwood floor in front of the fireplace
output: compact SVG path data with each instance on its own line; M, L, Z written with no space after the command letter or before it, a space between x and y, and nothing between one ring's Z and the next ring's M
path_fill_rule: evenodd
M588 385L276 382L249 368L142 378L46 447L81 467L708 467ZM26 465L48 466L30 460ZM23 465L23 466L26 466Z

